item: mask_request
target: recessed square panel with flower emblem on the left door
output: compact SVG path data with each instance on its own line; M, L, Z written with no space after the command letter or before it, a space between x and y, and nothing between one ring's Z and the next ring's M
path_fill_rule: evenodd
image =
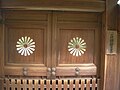
M6 30L7 63L44 64L44 28Z

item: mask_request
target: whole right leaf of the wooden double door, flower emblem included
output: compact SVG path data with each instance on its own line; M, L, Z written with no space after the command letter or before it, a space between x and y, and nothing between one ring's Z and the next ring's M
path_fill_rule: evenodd
M56 67L56 76L97 75L100 61L100 24L97 14L55 13L53 32L53 67ZM84 53L80 43L85 44Z

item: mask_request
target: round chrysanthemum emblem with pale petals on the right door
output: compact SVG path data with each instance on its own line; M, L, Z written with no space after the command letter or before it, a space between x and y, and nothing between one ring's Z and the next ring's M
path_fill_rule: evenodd
M86 51L86 42L79 37L75 37L68 43L68 51L73 56L81 56Z

